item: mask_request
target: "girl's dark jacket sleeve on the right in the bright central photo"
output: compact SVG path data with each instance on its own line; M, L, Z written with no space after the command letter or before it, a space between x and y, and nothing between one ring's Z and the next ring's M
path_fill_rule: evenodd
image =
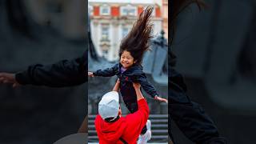
M147 94L150 94L152 98L158 95L157 91L154 89L154 86L147 81L146 74L140 74L138 76L138 82L141 84L143 90L145 90Z

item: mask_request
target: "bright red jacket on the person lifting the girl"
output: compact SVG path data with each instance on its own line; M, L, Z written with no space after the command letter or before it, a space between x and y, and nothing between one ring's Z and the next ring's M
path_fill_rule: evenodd
M116 122L105 122L98 114L95 118L95 128L100 144L121 144L119 138L129 144L137 143L139 134L149 118L150 110L146 100L138 101L138 111L134 114L127 114Z

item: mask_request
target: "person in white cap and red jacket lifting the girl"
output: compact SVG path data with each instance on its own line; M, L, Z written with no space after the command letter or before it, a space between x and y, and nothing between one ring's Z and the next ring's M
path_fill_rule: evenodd
M98 103L95 128L100 144L137 143L138 136L149 118L150 110L138 83L133 83L137 95L138 111L127 114L126 117L121 116L119 85L118 80L113 91L104 94Z

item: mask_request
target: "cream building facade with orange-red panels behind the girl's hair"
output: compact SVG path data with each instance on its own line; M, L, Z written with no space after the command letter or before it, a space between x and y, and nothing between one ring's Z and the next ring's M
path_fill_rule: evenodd
M162 10L154 1L89 0L91 36L97 53L108 61L118 60L122 38L129 33L138 15L153 6L153 35L162 30Z

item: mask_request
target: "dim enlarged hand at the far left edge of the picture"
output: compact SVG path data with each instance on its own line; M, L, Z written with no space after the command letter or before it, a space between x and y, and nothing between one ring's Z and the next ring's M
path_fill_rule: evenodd
M20 84L15 80L15 74L10 73L0 73L0 83L10 83L13 87L20 86Z

